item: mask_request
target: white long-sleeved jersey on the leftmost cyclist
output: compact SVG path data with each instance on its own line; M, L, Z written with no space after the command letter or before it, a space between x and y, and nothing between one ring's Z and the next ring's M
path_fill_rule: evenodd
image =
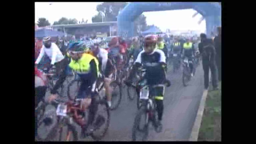
M43 45L40 54L35 62L36 64L41 61L44 54L46 54L51 59L51 64L54 64L64 59L64 56L62 55L60 49L55 43L52 43L50 48L45 48L45 46Z

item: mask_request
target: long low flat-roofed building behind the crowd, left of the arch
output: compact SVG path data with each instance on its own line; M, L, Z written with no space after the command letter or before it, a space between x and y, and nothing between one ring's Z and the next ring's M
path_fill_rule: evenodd
M55 31L63 31L75 35L76 39L81 37L108 37L117 35L117 22L99 22L85 24L52 25Z

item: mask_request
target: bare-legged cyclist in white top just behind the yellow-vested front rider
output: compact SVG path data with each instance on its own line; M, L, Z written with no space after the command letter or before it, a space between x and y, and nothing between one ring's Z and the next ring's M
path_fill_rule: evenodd
M99 48L100 41L93 40L91 44L91 54L98 58L99 60L99 69L101 73L105 76L104 77L104 87L106 90L107 96L107 103L109 107L111 107L111 89L110 89L110 82L112 73L114 72L115 68L112 65L111 61L108 59L108 52L105 49Z

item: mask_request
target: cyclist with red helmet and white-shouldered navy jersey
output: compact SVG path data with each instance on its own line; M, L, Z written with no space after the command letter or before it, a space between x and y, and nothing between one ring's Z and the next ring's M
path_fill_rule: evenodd
M147 35L144 40L144 50L141 51L134 63L131 74L125 84L127 86L131 86L131 80L134 77L135 73L138 71L139 67L143 64L143 67L146 68L146 73L143 79L147 81L148 85L157 85L163 82L166 82L166 61L164 52L156 49L157 45L157 37L155 35ZM161 87L159 91L157 91L157 96L155 97L155 101L157 104L157 113L158 120L157 125L161 126L162 116L163 116L163 93L164 88Z

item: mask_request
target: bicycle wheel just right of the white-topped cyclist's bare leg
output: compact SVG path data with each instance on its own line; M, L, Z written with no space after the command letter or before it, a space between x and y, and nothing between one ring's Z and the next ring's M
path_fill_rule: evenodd
M117 81L112 81L110 83L110 87L112 89L112 95L111 95L111 107L110 110L116 110L118 106L121 103L122 99L122 86Z

